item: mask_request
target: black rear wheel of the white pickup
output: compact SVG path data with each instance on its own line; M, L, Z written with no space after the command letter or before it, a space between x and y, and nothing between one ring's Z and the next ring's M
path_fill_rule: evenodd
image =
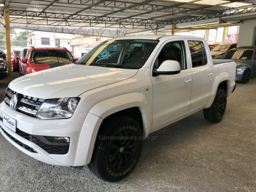
M212 106L204 109L204 118L207 121L218 123L223 118L227 106L227 93L218 88Z

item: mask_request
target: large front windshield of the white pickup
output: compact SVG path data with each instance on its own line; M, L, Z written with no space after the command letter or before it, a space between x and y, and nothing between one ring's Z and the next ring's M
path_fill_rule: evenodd
M76 64L139 69L155 49L156 40L109 40L105 41L80 58Z

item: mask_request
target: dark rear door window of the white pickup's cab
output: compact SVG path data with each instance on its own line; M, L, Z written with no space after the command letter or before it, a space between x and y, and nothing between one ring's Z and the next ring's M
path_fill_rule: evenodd
M201 41L188 41L192 67L199 67L207 64L204 44Z

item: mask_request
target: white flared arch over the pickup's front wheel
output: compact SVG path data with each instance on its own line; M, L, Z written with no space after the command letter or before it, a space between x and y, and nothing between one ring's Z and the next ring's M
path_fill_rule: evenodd
M143 128L143 136L148 136L152 125L152 110L148 99L142 93L128 93L94 105L88 112L79 137L76 162L74 166L89 164L99 129L104 120L114 115L133 113L130 117L138 121ZM140 116L139 116L140 115ZM139 117L138 117L139 116ZM84 148L86 146L86 148ZM84 151L84 153L81 153Z

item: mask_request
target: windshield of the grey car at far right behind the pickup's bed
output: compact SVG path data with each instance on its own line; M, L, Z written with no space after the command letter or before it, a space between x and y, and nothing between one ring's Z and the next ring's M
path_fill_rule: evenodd
M252 50L230 50L221 59L238 59L238 60L251 60L253 55Z

